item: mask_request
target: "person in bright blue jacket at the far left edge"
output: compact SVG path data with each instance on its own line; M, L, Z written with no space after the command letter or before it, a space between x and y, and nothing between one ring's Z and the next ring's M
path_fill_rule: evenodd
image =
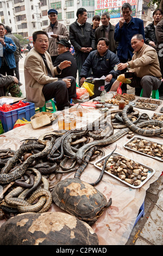
M0 74L14 76L16 45L11 38L5 36L5 33L5 26L0 23Z

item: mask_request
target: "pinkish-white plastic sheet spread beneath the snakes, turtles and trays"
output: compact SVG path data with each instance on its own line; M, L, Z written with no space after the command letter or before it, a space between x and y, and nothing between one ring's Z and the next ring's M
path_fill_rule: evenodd
M112 98L112 93L108 93L109 97ZM139 97L135 97L135 100L132 102L137 102ZM162 102L161 102L162 103ZM162 104L157 105L157 107L153 110L140 106L133 105L134 109L139 111L139 114L146 113L150 118L153 117L154 113L160 114L160 109L162 108ZM76 106L70 108L70 112L75 112ZM68 111L68 110L67 110ZM117 111L118 105L112 105L109 108L108 117L111 114L109 113ZM58 113L58 112L55 112ZM81 127L90 127L93 121L102 117L104 114L99 108L92 107L90 102L83 104L83 117L78 117L77 120L77 129ZM3 133L0 136L0 149L12 149L17 150L23 143L24 139L36 137L43 135L46 132L52 132L58 130L57 121L53 121L52 125L43 126L39 129L33 129L31 124L27 124L22 127L17 127L11 131ZM114 134L116 133L116 129L114 129ZM159 157L151 157L149 155L140 154L137 150L131 150L127 148L127 143L130 141L127 138L128 134L124 134L122 137L117 139L117 141L104 145L102 149L105 152L105 156L111 153L116 147L114 153L118 154L118 156L124 156L128 159L131 159L135 162L142 164L143 167L149 168L148 179L143 181L141 186L134 186L133 184L127 184L123 180L115 178L114 175L110 175L109 173L104 173L103 179L96 185L97 190L104 194L107 201L112 198L112 204L109 208L104 210L104 213L98 218L98 220L91 226L92 229L98 236L99 245L125 245L128 237L131 233L131 230L134 227L135 221L137 219L137 215L139 214L139 210L141 205L143 204L146 196L146 191L149 188L150 184L152 184L155 180L157 180L162 172L162 160ZM152 136L145 137L141 135L137 135L135 133L134 137L139 137L142 139L147 139L149 141L153 141L155 143L162 144L162 138L160 136ZM99 159L101 156L99 155L95 160L93 160L90 164L88 163L84 172L80 176L80 179L85 182L95 182L99 174L101 173L100 166L98 166ZM95 164L94 164L95 163ZM61 176L61 180L67 178L74 178L74 172L67 173ZM51 205L51 208L48 210L50 212L64 212L54 203ZM0 226L6 220L0 221Z

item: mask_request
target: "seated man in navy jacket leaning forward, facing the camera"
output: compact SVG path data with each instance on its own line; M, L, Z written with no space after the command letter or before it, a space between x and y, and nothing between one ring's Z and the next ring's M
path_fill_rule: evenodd
M107 38L99 38L97 44L97 50L92 51L86 58L82 70L80 72L80 86L85 81L90 68L92 69L92 77L100 78L105 76L105 81L109 82L105 86L106 92L109 92L112 83L116 81L118 75L121 74L120 70L115 71L115 65L120 63L117 55L110 50L109 40Z

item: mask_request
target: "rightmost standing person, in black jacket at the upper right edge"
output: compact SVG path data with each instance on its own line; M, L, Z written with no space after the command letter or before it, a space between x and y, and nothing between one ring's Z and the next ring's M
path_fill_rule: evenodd
M157 39L155 35L155 26L162 20L162 10L155 9L153 12L153 22L145 27L145 44L155 47Z

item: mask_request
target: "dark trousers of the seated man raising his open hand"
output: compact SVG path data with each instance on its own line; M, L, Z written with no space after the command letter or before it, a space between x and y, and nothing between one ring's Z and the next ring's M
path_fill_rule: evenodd
M67 88L64 81L58 80L56 82L47 83L42 88L42 93L46 101L55 98L58 111L70 106L70 100L77 97L76 80L72 76L65 78L71 79L71 87Z

